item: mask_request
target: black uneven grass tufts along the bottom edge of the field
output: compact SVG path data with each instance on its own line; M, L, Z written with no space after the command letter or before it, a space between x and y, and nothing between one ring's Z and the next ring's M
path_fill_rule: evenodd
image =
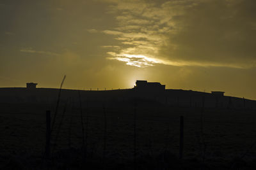
M101 164L102 157L88 151L88 159L83 160L83 152L78 148L70 148L69 150L59 150L54 153L49 162L36 157L35 155L0 155L3 161L1 169L133 169L132 159L113 159L106 157L106 164ZM164 158L164 159L163 159ZM225 159L206 159L204 163L205 169L255 169L256 159L246 161L244 159L234 158ZM198 158L180 160L172 152L164 152L156 155L138 155L138 169L200 169L202 167Z

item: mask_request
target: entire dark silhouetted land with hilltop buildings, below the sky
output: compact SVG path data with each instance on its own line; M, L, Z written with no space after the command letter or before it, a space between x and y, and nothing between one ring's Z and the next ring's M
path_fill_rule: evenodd
M0 169L255 169L256 101L165 89L0 88Z

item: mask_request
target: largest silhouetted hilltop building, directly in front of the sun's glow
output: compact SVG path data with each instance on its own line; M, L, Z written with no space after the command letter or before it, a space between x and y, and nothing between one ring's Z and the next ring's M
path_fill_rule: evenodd
M148 82L146 80L137 80L134 89L148 92L159 92L165 90L165 85L158 82Z

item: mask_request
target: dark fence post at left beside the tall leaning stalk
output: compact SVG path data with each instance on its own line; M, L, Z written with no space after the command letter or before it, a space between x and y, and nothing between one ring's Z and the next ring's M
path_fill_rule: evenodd
M51 111L46 111L46 141L45 141L45 157L50 158L51 153Z

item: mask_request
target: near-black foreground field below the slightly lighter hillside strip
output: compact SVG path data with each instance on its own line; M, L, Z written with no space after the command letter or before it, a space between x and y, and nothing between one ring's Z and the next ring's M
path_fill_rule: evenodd
M56 103L1 103L0 169L256 169L253 110L92 103L60 103L49 159L45 112L53 120Z

